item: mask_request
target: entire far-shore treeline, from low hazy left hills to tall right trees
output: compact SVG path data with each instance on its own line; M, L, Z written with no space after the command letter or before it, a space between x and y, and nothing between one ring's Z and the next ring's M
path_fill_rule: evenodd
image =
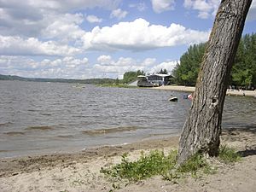
M189 49L181 56L180 62L177 63L177 66L172 70L172 84L195 86L206 48L207 43L189 46ZM160 72L155 73L166 74L168 72L166 69L161 69ZM136 81L138 75L145 74L146 73L141 70L137 70L137 72L129 71L124 73L123 79L32 79L0 74L0 80L112 84L122 86ZM229 84L236 88L256 88L256 33L246 34L241 38L234 65L230 73Z

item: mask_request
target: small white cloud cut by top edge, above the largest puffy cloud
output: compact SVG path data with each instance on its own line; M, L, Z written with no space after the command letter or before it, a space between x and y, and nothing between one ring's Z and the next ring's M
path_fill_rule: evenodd
M175 0L151 0L155 13L160 14L164 11L174 9Z

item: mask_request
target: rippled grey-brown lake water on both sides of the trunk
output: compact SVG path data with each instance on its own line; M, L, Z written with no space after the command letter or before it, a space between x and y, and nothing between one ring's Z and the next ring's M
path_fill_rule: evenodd
M0 81L0 157L177 135L189 106L165 90ZM255 107L253 97L226 97L223 127L256 127Z

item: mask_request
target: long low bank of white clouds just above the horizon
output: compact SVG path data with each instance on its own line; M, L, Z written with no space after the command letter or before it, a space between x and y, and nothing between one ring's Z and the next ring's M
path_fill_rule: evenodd
M30 78L119 78L128 71L143 70L146 73L157 73L161 68L172 71L177 61L158 62L155 58L145 58L143 61L131 57L119 57L114 60L110 55L100 55L94 65L89 60L66 56L57 59L35 61L26 56L0 56L0 73L13 74Z

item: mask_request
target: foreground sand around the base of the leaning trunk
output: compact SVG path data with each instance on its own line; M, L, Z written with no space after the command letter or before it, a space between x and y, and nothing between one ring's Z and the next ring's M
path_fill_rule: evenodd
M177 148L178 138L143 141L117 147L90 148L77 154L51 154L0 160L0 191L109 191L112 183L100 173L102 166L120 161L129 152L135 160L141 150ZM187 177L171 183L152 177L129 184L117 191L256 191L256 129L226 130L222 143L235 147L243 155L241 162L224 166L218 172L199 178Z

